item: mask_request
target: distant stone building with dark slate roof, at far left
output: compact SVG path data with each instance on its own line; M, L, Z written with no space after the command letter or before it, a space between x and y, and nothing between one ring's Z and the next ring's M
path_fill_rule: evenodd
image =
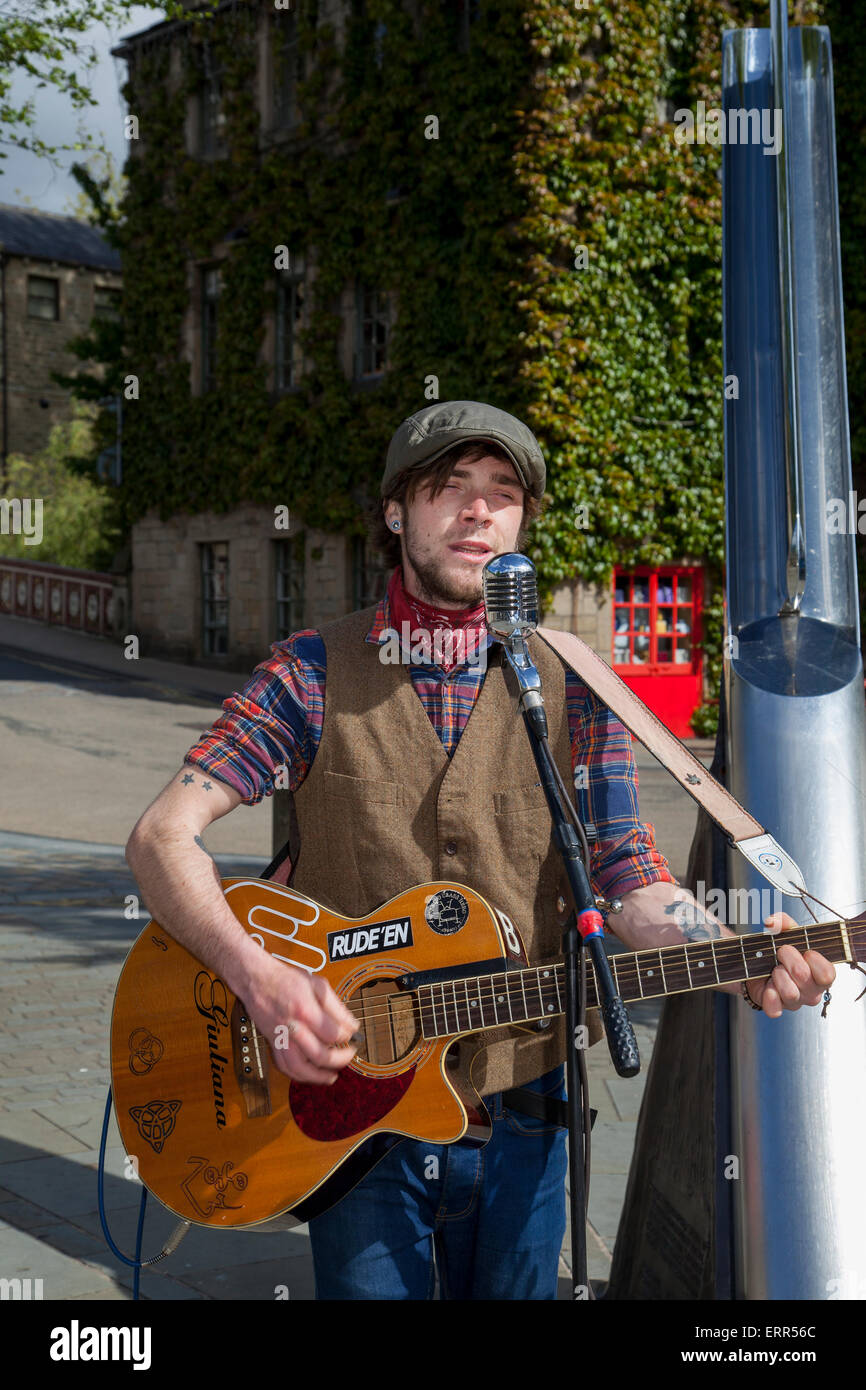
M0 204L0 452L32 456L71 416L51 371L95 317L118 317L121 259L88 222Z

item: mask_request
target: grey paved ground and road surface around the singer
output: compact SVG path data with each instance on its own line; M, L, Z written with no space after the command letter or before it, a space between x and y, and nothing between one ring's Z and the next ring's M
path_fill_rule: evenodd
M100 1230L96 1170L108 1074L108 1022L120 967L146 924L122 844L177 771L196 731L247 673L125 662L100 639L0 619L0 1277L40 1279L46 1300L128 1300L131 1270ZM64 694L65 692L65 694ZM71 694L70 694L71 692ZM200 726L200 730L199 730ZM14 735L11 739L8 735ZM709 764L712 746L694 741ZM685 869L695 806L637 748L641 812L671 869ZM210 827L222 876L261 872L270 803ZM229 824L231 821L231 824ZM589 1276L603 1286L623 1208L659 1005L634 1006L642 1070L624 1080L605 1044L588 1052L592 1134ZM129 1252L140 1184L125 1175L111 1118L106 1211ZM143 1252L175 1220L147 1207ZM560 1297L569 1297L569 1240ZM142 1275L145 1300L313 1298L306 1227L274 1234L192 1229Z

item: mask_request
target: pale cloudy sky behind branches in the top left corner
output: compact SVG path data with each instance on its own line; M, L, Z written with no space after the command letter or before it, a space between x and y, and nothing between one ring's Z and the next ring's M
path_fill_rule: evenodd
M92 138L101 140L120 172L126 160L125 106L121 99L126 64L122 58L113 58L110 50L122 38L149 29L161 19L164 19L164 11L149 6L136 6L131 10L128 21L118 29L110 32L104 25L95 24L86 35L81 36L82 46L89 43L99 54L99 63L92 68L88 79L97 106L85 107L76 113L72 103L54 88L46 86L36 90L35 79L26 75L15 78L10 100L24 101L28 96L36 99L33 129L47 145L71 145L76 138L78 128L83 128ZM58 167L54 167L47 157L39 158L10 146L3 149L6 158L0 161L0 203L33 207L44 213L71 211L71 204L81 189L70 177L68 168L75 160L85 158L82 152L58 150L54 156ZM97 171L101 172L101 165Z

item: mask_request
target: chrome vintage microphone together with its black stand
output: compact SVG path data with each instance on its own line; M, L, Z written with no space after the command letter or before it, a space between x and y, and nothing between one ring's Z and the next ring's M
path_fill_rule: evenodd
M541 691L541 676L532 662L527 638L538 627L538 582L535 566L525 555L493 556L481 574L484 612L491 635L505 649L506 663L517 681L518 708L524 717L530 746L541 777L550 817L553 841L559 849L571 897L577 908L563 933L566 969L566 1077L569 1115L569 1190L571 1200L571 1284L573 1297L585 1297L587 1279L587 1187L584 1159L587 1136L581 1104L582 1076L578 1031L585 1013L585 951L589 949L595 970L601 1013L613 1065L620 1076L635 1076L641 1058L626 1005L616 991L605 955L603 919L589 883L589 847L587 833L571 805L548 742L548 716Z

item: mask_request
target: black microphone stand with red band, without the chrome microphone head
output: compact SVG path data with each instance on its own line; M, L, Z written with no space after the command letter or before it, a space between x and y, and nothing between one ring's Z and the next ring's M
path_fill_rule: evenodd
M538 767L541 785L544 787L550 809L553 841L562 856L577 909L577 916L574 912L571 913L563 934L566 967L569 1195L571 1204L571 1297L577 1300L585 1298L589 1294L589 1280L587 1276L587 1183L584 1172L587 1133L581 1094L582 1077L578 1065L578 1048L581 1047L582 1034L577 1031L584 1024L587 948L595 970L598 1001L607 1036L607 1047L610 1048L610 1056L617 1073L620 1076L637 1076L641 1069L641 1058L631 1020L626 1005L617 994L610 965L605 955L603 917L598 910L595 894L589 883L589 866L584 863L581 842L566 812L559 769L548 742L548 716L541 694L541 676L527 652L525 639L518 628L514 628L507 638L500 638L500 641L505 648L507 664L517 677L520 689L518 705L530 737L530 746L535 766Z

